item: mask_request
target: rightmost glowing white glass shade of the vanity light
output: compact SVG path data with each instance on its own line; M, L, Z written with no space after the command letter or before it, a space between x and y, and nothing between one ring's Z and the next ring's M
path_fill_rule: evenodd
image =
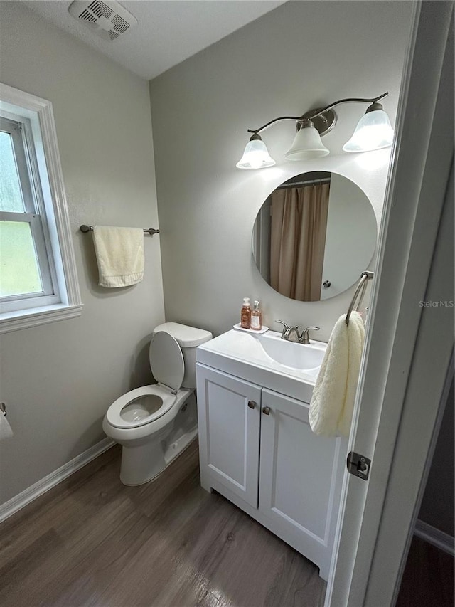
M343 145L345 152L371 152L389 147L393 142L393 129L384 110L373 110L363 115L353 136Z

